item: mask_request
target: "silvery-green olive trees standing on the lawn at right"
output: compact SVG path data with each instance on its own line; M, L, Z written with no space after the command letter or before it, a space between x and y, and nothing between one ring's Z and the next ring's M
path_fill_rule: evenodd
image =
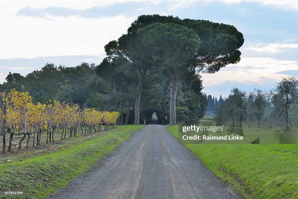
M231 93L215 108L214 120L218 124L236 123L241 127L256 125L258 128L298 125L298 80L289 76L280 80L274 89L246 93L233 88Z

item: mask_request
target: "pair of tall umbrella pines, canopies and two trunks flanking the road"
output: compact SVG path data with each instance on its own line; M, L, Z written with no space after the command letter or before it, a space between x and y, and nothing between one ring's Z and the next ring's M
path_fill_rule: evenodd
M195 72L214 73L240 60L244 39L234 26L173 16L141 15L127 34L105 45L107 56L126 62L138 74L135 124L140 120L144 80L162 74L171 81L170 125L176 124L179 80L190 81Z

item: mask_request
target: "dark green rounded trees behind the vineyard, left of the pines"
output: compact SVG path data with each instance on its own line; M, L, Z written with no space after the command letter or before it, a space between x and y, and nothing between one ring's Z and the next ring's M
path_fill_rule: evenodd
M94 74L95 64L81 63L76 67L55 66L47 63L25 77L18 73L8 74L0 91L29 92L33 102L46 103L49 99L90 106L89 96L94 91L103 91L103 81Z

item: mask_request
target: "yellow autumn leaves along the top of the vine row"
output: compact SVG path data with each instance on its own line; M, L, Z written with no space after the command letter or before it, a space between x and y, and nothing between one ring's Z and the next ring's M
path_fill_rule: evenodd
M0 93L0 128L6 120L6 126L11 130L37 132L51 127L75 128L78 126L94 127L98 125L115 124L119 112L97 111L94 108L80 109L79 105L65 102L49 101L47 104L32 103L28 92ZM6 112L6 114L4 114Z

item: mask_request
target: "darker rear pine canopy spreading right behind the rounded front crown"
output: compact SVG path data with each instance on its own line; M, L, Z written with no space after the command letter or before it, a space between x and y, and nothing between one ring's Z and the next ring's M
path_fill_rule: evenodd
M193 29L200 38L200 46L187 65L198 71L214 73L229 63L240 61L238 50L244 38L234 26L214 23L208 20L183 19L173 16L141 15L131 27L128 34L134 35L141 28L153 23L173 23Z

